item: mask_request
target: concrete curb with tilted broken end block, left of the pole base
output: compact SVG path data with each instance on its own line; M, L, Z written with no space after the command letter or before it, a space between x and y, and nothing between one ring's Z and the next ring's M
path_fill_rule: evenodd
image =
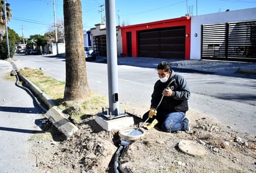
M62 132L67 138L72 137L73 134L78 131L78 127L76 127L74 124L68 120L65 115L62 113L61 109L58 109L57 106L55 106L55 103L52 99L50 99L43 91L41 91L37 86L34 85L34 83L30 82L18 73L19 79L22 82L25 82L25 85L30 88L30 90L37 95L42 102L48 107L48 111L45 113L45 117L47 117L50 122L58 129L60 132Z

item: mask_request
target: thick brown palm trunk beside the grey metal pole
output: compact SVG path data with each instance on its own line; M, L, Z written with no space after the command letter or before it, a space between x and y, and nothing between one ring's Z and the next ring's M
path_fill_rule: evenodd
M83 101L91 96L86 75L81 0L63 0L66 40L65 101Z

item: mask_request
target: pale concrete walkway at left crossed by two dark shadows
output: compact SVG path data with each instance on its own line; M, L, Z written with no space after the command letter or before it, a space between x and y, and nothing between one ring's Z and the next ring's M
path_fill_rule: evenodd
M35 172L36 158L30 153L29 138L40 129L40 114L31 96L15 85L14 80L4 80L12 65L0 60L0 172Z

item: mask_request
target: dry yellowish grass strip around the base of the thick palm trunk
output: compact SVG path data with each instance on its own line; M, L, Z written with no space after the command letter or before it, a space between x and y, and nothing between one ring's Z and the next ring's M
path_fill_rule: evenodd
M54 78L43 75L42 70L24 68L19 73L34 83L40 90L55 101L58 108L65 111L74 122L81 122L85 116L92 116L101 112L102 108L106 108L107 99L96 93L91 93L91 99L83 103L62 103L65 82L55 80Z

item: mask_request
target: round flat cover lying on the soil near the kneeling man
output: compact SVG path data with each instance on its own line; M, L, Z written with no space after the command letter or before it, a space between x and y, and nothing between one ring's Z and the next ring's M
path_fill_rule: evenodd
M201 144L191 140L181 140L178 147L181 151L191 156L203 156L206 154L206 150Z

